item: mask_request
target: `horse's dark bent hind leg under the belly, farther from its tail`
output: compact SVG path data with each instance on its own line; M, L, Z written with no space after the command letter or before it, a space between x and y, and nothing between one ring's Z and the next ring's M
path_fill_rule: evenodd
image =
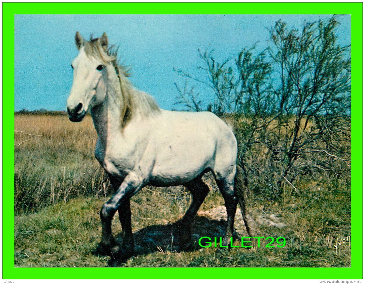
M192 193L193 201L189 209L186 211L183 219L180 220L179 245L181 249L186 249L190 245L191 223L209 192L208 186L200 178L192 180L189 183L184 184L184 186Z

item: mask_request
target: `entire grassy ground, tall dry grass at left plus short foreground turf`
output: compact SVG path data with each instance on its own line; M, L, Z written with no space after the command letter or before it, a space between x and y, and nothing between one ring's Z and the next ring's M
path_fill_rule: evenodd
M344 183L295 184L283 200L268 201L248 193L248 215L254 228L250 249L201 247L200 237L224 232L224 205L212 177L211 191L193 223L196 241L179 252L175 223L191 196L183 187L142 189L131 200L135 255L126 263L96 253L100 241L99 210L112 194L94 158L96 132L90 116L72 123L65 115L15 115L15 266L135 267L347 267L349 243L336 250L336 239L350 235L350 189ZM316 186L314 187L313 184ZM236 215L235 242L246 237ZM115 216L114 233L120 224ZM270 238L285 238L285 246ZM265 239L268 238L268 239Z

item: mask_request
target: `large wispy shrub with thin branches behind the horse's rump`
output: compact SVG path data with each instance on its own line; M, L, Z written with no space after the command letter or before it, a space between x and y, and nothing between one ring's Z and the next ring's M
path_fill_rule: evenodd
M338 24L333 16L299 31L279 20L264 51L246 47L234 64L199 51L203 78L175 69L214 93L204 105L186 82L177 104L233 124L250 192L276 199L305 180L349 188L351 60L350 46L337 43Z

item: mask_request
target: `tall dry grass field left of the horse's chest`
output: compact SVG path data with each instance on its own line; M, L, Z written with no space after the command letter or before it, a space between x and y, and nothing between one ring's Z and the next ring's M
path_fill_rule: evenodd
M80 124L66 115L16 115L14 129L16 213L95 191L105 196L90 116Z

